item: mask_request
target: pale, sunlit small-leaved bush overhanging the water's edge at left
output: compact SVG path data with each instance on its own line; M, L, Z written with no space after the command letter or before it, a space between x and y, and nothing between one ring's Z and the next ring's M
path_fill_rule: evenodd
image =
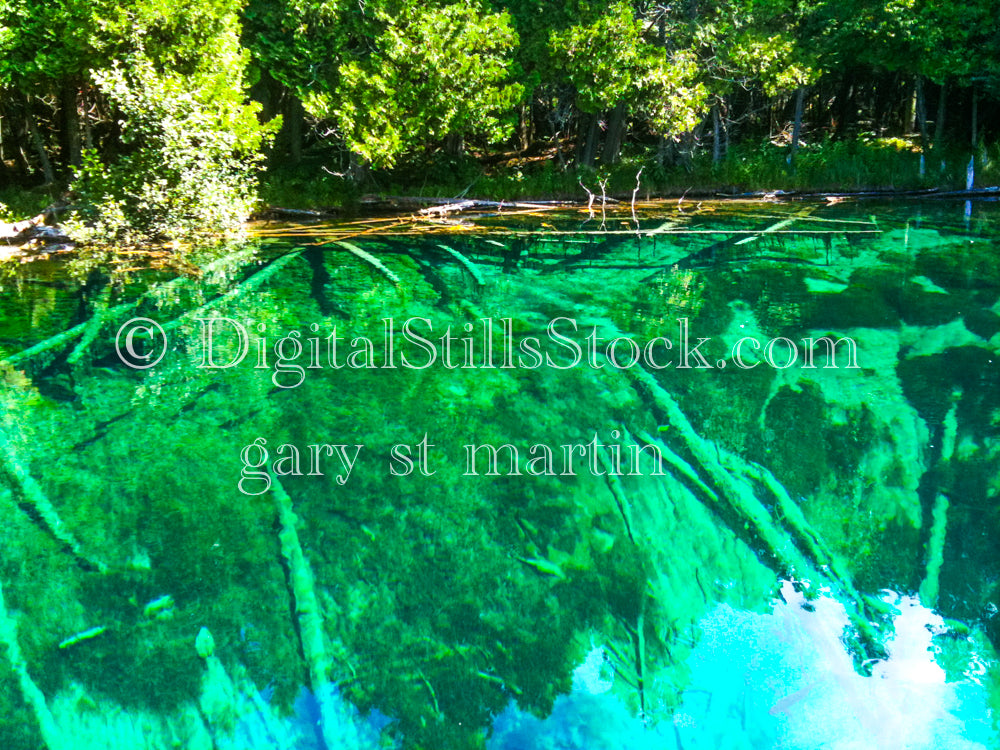
M148 54L140 43L126 65L93 72L121 115L126 150L117 159L85 156L72 186L86 207L79 238L129 244L240 231L273 128L258 122L259 105L244 103L247 53L235 14L216 32L197 58L193 48Z

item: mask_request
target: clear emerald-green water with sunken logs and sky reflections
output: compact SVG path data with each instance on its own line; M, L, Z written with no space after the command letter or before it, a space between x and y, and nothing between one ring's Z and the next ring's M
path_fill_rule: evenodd
M0 746L997 747L997 204L682 208L8 269Z

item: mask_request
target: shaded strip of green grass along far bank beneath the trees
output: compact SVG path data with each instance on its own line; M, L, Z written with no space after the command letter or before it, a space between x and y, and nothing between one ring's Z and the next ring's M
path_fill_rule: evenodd
M849 141L824 140L799 149L793 173L787 164L787 146L770 142L744 143L713 163L710 152L696 153L689 163L664 167L655 152L638 148L623 154L615 165L597 169L561 169L553 159L511 160L485 167L471 156L436 153L393 171L369 175L367 184L353 186L317 166L320 158L298 169L282 167L264 179L263 202L295 208L351 207L368 195L422 198L480 198L483 200L586 200L580 183L609 196L628 198L641 168L640 198L697 194L740 194L758 191L857 192L904 191L938 187L965 187L968 152L961 149L928 159L919 174L919 146L915 139L862 135ZM980 149L977 185L1000 183L1000 144Z

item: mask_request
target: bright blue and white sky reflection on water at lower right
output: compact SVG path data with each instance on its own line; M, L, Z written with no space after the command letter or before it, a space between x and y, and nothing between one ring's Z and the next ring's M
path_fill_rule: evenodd
M574 672L572 691L538 719L513 706L490 748L990 747L983 680L988 657L949 635L914 597L893 605L889 654L871 677L844 653L843 605L807 605L789 582L773 611L719 605L699 622L690 678L671 719L643 722L616 697L604 649ZM806 605L806 606L803 606ZM963 672L948 674L941 664ZM961 668L961 667L957 667Z

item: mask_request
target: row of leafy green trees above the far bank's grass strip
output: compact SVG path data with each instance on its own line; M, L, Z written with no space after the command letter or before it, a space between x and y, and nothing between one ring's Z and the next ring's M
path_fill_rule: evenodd
M308 110L355 176L466 137L496 146L515 125L521 149L537 133L558 139L564 166L574 134L578 164L601 140L614 162L630 124L661 157L671 141L693 154L710 127L721 159L731 137L771 135L775 117L794 123L790 162L809 123L840 137L862 122L906 136L916 122L926 153L928 123L940 144L947 122L967 146L994 127L994 5L0 0L0 140L17 144L0 177L54 183L85 143L75 187L94 217L131 227L122 236L234 226L272 130L246 104L251 83L261 113L284 115L272 163L298 162ZM186 202L199 180L220 201L204 212Z

